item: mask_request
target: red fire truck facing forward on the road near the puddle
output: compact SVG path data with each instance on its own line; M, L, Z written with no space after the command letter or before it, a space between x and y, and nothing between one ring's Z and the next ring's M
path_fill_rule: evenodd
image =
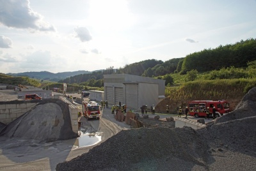
M87 120L100 119L100 105L95 101L83 101L83 115Z

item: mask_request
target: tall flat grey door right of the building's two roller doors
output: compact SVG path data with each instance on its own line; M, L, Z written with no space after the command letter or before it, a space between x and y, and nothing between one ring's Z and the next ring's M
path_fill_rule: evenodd
M138 84L126 84L126 103L127 107L138 109Z

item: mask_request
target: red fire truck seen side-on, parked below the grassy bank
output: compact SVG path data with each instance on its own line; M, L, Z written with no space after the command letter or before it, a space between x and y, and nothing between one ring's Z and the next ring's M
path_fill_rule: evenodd
M206 109L209 107L209 114L212 115L212 108L216 108L216 117L230 112L228 101L225 100L193 100L188 101L189 115L195 117L206 117Z

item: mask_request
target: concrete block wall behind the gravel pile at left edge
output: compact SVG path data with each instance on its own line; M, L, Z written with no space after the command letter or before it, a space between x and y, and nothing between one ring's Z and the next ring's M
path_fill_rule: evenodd
M35 107L40 100L28 100L28 101L0 101L0 122L9 124L20 115L31 110Z

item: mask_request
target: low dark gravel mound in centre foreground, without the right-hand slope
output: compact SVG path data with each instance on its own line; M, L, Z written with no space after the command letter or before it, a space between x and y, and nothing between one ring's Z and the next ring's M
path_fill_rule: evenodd
M137 170L138 163L148 168L160 161L204 167L209 158L204 141L192 128L125 130L88 153L58 164L56 170Z

